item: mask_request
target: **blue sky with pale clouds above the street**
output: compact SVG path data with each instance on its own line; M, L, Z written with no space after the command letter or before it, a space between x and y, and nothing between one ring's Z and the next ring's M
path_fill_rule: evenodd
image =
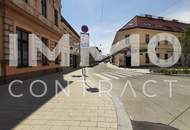
M151 14L190 23L190 0L61 0L62 15L80 34L87 25L90 46L109 54L116 32L136 15Z

